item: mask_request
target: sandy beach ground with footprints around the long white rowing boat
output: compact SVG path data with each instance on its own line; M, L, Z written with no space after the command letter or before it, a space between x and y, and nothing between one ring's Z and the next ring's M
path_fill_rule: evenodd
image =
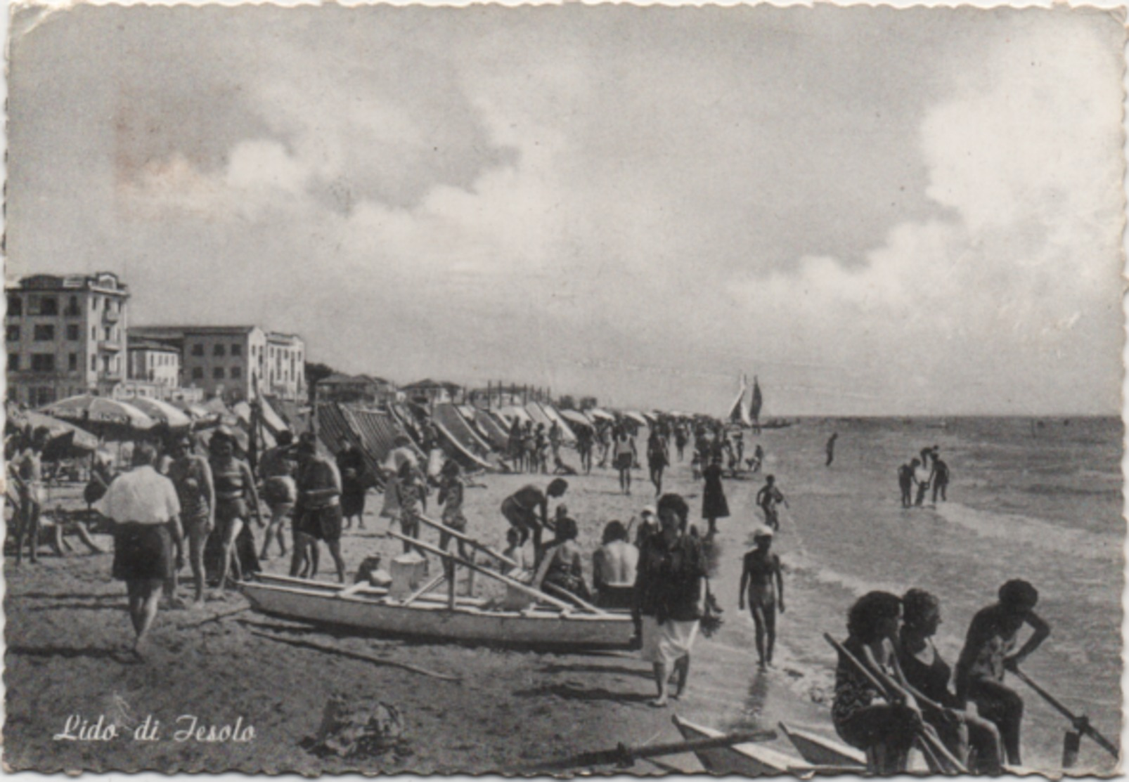
M571 454L569 456L572 456ZM575 460L575 457L572 457ZM484 487L466 492L469 531L502 547L506 522L497 509L508 493L531 480L550 476L488 475ZM634 472L634 494L619 491L615 473L595 469L571 478L564 498L579 521L580 544L592 551L604 524L624 522L654 502L646 469ZM723 524L720 551L743 550L754 526L754 482L729 484L734 518ZM689 463L667 471L666 491L683 493L697 520L700 485L691 480ZM54 497L59 490L54 490ZM380 536L386 522L377 518L380 497L370 493L364 531L345 533L349 572L370 554L399 553L400 543ZM52 504L54 500L52 500ZM434 510L434 509L432 509ZM257 531L257 530L256 530ZM434 541L434 530L423 533ZM110 541L106 539L110 550ZM44 548L45 551L45 548ZM385 559L387 561L387 559ZM320 578L331 578L323 552ZM269 572L286 572L287 562L272 559ZM10 770L49 771L139 770L219 772L297 772L303 774L361 771L396 773L518 772L533 764L572 753L612 748L622 741L642 745L675 741L671 715L730 729L711 719L711 689L737 687L750 692L759 717L743 727L765 727L777 719L819 722L819 708L787 687L754 675L755 652L699 639L689 692L669 709L654 709L654 683L648 664L632 652L592 654L535 653L444 643L421 643L333 635L321 629L239 612L246 601L231 595L209 600L203 609L164 609L150 636L143 662L132 662L124 649L132 641L125 614L124 585L110 579L111 555L71 554L58 559L44 553L35 566L16 568L6 561L7 595L7 724L5 761ZM434 568L434 565L432 565ZM187 571L182 571L182 578ZM723 598L728 623L738 616L735 599L738 556L720 557L715 589ZM590 578L590 575L589 575ZM485 579L478 577L480 589ZM182 585L182 596L187 589ZM271 639L264 635L273 636ZM719 638L737 638L732 627ZM742 634L747 638L747 633ZM286 643L274 639L298 642ZM308 645L336 650L323 651ZM352 656L350 656L352 654ZM371 659L360 659L371 658ZM384 662L392 664L385 665ZM458 682L447 682L395 667L409 664ZM787 676L773 671L773 676ZM732 680L727 680L730 679ZM305 746L321 723L323 708L334 695L351 703L378 700L400 710L406 727L403 750L361 762L320 757ZM147 715L159 720L159 738L139 741L125 735L110 741L53 740L68 717L104 724L121 717L139 724ZM253 726L244 743L178 741L175 732L194 715L200 726ZM699 770L693 756L671 756L667 763ZM639 763L637 773L658 773Z

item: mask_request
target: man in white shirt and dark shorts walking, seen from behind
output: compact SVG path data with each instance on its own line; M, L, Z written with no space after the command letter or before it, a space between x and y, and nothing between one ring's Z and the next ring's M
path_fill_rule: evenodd
M174 566L184 565L183 554L173 556L180 546L181 503L173 482L154 465L157 449L139 442L133 449L133 468L120 475L97 503L97 510L114 521L113 578L125 582L130 621L133 624L132 653L143 659L146 636L157 618L161 590Z

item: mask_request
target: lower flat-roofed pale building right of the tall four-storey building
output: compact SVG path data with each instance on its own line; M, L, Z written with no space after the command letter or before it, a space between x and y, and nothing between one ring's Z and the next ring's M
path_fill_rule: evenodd
M227 402L255 398L255 390L298 401L306 394L305 345L298 336L259 326L139 326L138 339L181 352L181 384Z

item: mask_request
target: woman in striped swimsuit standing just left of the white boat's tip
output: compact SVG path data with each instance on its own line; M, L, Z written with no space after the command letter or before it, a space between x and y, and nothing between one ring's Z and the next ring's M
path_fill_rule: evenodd
M260 527L266 525L259 510L254 475L246 462L235 457L235 436L230 430L217 429L208 441L208 451L216 489L216 534L208 537L204 560L219 572L216 597L222 600L233 560L236 580L259 571L255 537L248 526L251 516L254 515Z

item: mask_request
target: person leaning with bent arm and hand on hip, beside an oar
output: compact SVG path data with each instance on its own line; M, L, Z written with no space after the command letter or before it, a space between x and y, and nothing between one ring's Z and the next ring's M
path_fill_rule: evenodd
M1007 762L1018 766L1023 698L1004 684L1005 673L1016 670L1047 640L1051 629L1035 614L1039 591L1027 581L1013 579L999 588L998 596L997 603L977 612L969 624L956 662L956 697L961 703L971 700L981 715L996 723ZM1034 632L1013 653L1023 625Z

